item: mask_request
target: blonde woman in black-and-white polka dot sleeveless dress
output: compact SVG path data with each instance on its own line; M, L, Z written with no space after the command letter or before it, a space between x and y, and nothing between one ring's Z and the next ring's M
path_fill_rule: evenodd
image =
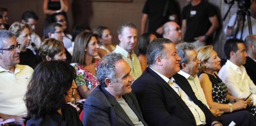
M231 113L245 109L248 107L247 104L251 104L250 98L245 101L245 98L239 99L228 93L226 85L218 77L217 71L220 69L221 59L213 50L212 45L199 47L197 54L201 62L199 80L209 107Z

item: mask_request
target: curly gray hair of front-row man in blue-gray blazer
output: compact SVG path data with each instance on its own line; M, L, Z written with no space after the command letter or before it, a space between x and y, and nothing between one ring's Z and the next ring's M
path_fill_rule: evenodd
M97 70L97 79L101 87L107 87L105 83L106 78L110 78L113 82L117 81L115 63L121 59L123 59L123 57L119 53L108 53L102 57Z

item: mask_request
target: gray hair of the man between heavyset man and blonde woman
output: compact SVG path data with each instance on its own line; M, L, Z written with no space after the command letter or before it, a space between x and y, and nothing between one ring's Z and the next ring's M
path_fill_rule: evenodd
M182 68L182 63L189 63L188 55L185 53L185 50L194 50L195 46L191 43L183 42L178 45L176 45L177 54L181 57L180 60L180 68Z

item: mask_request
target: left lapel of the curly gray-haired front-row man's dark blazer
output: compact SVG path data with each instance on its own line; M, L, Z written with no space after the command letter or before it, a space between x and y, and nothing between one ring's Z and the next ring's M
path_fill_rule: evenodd
M125 122L127 122L128 124L134 126L132 120L128 117L128 115L125 113L125 111L123 110L123 108L120 106L120 104L116 101L116 99L109 94L104 88L101 87L102 92L104 93L104 95L106 95L109 103L112 105L115 113L122 118Z

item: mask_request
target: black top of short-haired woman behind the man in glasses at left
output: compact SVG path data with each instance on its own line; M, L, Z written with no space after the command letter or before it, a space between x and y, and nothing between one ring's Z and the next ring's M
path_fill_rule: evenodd
M30 49L27 49L26 52L21 51L19 64L20 65L28 65L34 69L37 65L36 56Z

